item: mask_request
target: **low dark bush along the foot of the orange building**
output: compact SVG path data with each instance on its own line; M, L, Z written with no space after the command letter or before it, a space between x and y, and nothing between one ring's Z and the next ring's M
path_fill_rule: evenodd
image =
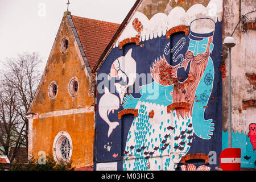
M39 164L38 160L32 158L28 160L27 164L20 163L18 161L14 162L10 171L74 171L75 167L72 167L72 161L65 162L61 160L56 163L52 155L46 157L46 164Z

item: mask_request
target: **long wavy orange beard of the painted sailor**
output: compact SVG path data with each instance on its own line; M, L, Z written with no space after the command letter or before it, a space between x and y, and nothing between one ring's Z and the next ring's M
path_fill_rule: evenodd
M166 58L163 56L160 57L160 60L155 60L152 68L150 68L150 72L152 77L156 82L160 85L168 86L174 84L174 91L172 95L173 102L188 102L189 110L186 111L183 108L177 108L176 114L179 118L180 115L182 118L189 114L192 115L193 103L195 101L195 93L197 85L201 80L201 77L204 75L205 68L207 67L209 58L209 48L207 52L200 53L197 56L193 56L192 51L187 51L185 55L185 59L181 64L182 67L187 68L189 61L190 64L190 72L188 74L188 79L184 82L177 81L177 68L180 65L171 66L167 63Z

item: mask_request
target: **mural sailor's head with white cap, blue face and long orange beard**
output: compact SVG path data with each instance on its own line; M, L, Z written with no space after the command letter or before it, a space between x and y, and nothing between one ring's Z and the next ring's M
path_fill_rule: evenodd
M208 26L206 30L201 26ZM171 66L163 58L151 68L151 75L160 85L174 84L173 102L188 102L189 110L177 108L177 117L191 117L195 102L196 88L204 75L210 52L213 49L214 22L211 19L199 19L191 23L189 48L185 59L179 65ZM204 30L204 32L202 31ZM167 75L168 78L164 75Z

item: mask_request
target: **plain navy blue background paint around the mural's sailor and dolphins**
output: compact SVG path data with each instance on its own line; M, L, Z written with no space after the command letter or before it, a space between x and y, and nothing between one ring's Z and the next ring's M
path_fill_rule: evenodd
M180 38L185 38L185 46L181 49L179 53L182 53L185 56L185 53L188 49L189 38L188 35L185 35L184 32L176 33L171 36L171 39L166 39L166 35L160 36L158 38L153 38L145 41L141 41L140 45L143 46L135 46L135 44L126 44L123 46L123 49L119 49L115 47L109 53L108 57L101 65L100 69L98 69L97 74L100 73L110 73L110 68L112 67L112 63L117 57L124 56L130 48L133 49L132 57L137 62L137 73L146 73L150 74L150 67L152 66L153 61L159 58L159 56L165 56L166 60L171 65L179 64L179 61L175 62L171 61L172 53L166 55L164 53L164 49L167 44L170 43L170 46L174 46ZM193 144L189 149L187 154L191 153L205 153L208 154L209 151L216 151L217 153L217 165L219 166L218 156L222 150L222 76L220 72L220 64L221 64L221 51L222 51L222 22L217 22L215 25L214 37L213 37L214 48L212 53L210 53L210 57L213 60L214 65L214 81L213 81L213 90L210 94L208 104L209 105L205 109L204 117L205 120L213 119L214 122L214 131L212 138L210 139L201 139L197 137L195 134L193 135ZM112 78L114 79L114 78ZM137 78L138 79L138 78ZM99 84L102 80L97 80L97 84ZM119 82L121 80L109 81L109 88L115 88L114 82ZM152 82L152 78L147 80L147 84ZM139 85L142 85L142 81L139 81ZM99 88L98 88L99 89ZM104 89L104 88L102 88ZM135 88L134 88L135 89ZM111 92L111 91L110 91ZM134 92L134 90L133 90ZM113 92L112 92L113 93ZM119 96L117 92L113 93L115 96ZM97 93L97 106L100 101L103 93ZM141 97L140 93L132 93L134 98ZM212 99L214 98L214 99ZM157 102L157 101L156 101ZM167 101L168 102L168 101ZM168 105L168 103L167 103ZM118 121L119 126L113 130L112 134L108 138L108 125L101 119L98 114L98 107L96 108L96 140L94 142L94 146L96 147L94 150L94 169L96 167L96 163L101 162L118 162L118 170L123 169L122 156L125 151L125 143L127 139L127 135L129 133L130 126L133 122L133 115L126 115L121 119L118 119L118 111L123 110L122 104L119 105L118 110L114 110L114 113L110 112L109 120L114 122ZM107 150L106 146L109 146L110 151ZM113 154L118 154L116 157ZM216 165L210 165L213 168Z

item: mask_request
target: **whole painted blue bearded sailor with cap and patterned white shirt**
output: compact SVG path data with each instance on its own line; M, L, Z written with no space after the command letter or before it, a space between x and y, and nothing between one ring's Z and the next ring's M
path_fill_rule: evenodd
M206 31L210 32L202 32L202 25L207 26ZM124 169L144 170L148 161L152 163L152 155L164 156L165 168L172 169L175 163L179 163L181 156L189 151L194 133L204 139L210 138L214 130L212 119L204 120L205 108L195 100L202 94L200 104L207 104L212 90L213 77L208 82L205 82L205 78L207 74L214 74L213 62L209 57L213 49L214 25L210 19L193 21L185 59L176 66L168 64L164 56L155 60L150 69L154 82L142 85L141 89L146 92L142 93L141 98L125 98L124 108L136 100L134 107L138 109L138 117L134 119L127 136L125 154L140 159L135 160L134 165L124 161ZM150 93L154 92L159 93L158 99L150 99ZM172 97L168 98L167 93L171 92ZM171 115L168 114L167 105L175 102L187 102L189 109L176 108ZM147 113L152 110L155 113L154 119L147 117ZM160 169L156 160L154 163Z

